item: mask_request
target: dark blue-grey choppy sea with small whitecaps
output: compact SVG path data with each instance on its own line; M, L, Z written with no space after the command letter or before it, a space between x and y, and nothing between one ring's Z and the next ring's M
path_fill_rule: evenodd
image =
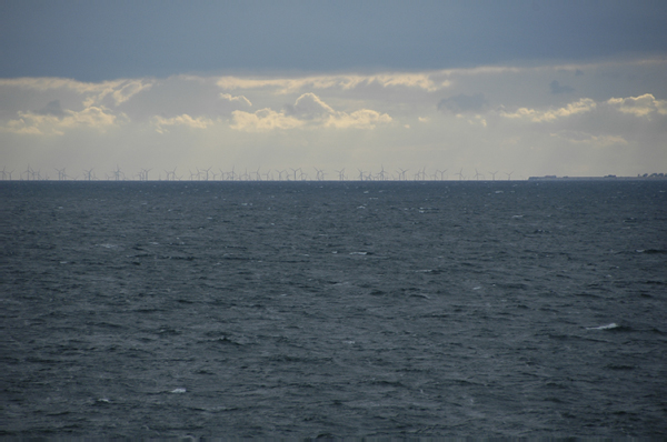
M4 438L665 438L667 181L0 182Z

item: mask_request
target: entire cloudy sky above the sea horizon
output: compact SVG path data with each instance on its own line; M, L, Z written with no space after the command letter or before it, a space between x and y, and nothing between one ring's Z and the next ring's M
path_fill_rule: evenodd
M4 0L0 179L667 172L665 22L663 0Z

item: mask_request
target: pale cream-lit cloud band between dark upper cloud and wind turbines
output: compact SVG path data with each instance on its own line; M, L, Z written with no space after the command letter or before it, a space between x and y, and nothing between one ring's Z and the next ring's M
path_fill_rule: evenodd
M647 68L648 67L648 68ZM3 165L636 175L667 170L667 61L409 73L0 79ZM633 80L639 78L640 80ZM653 78L653 80L651 80ZM556 80L558 79L558 80ZM554 81L575 84L552 93ZM313 174L312 172L311 174ZM350 172L351 173L351 172ZM14 175L17 177L17 175ZM337 177L337 175L336 175Z

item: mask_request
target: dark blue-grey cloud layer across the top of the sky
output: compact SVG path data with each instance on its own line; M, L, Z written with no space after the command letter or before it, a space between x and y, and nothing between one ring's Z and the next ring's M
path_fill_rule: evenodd
M0 77L415 71L661 54L665 17L664 1L6 0Z

